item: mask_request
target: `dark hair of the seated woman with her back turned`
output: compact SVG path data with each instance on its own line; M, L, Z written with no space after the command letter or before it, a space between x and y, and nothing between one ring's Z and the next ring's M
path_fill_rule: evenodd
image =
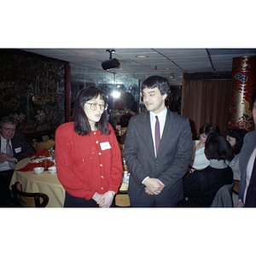
M207 137L205 154L208 160L232 160L234 158L230 143L217 133L212 133Z

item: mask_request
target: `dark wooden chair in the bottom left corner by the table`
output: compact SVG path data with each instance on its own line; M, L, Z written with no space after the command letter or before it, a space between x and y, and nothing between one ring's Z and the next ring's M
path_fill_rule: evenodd
M22 192L20 182L15 182L11 188L14 195L15 207L46 207L49 202L48 195L44 193Z

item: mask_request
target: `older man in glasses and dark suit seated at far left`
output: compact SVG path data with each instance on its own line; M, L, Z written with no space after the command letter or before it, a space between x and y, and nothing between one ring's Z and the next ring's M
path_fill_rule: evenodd
M0 120L0 178L2 184L5 184L7 188L9 188L16 163L35 153L32 146L26 141L24 134L16 131L17 126L18 122L12 117L7 116ZM0 200L4 198L3 193L1 194Z

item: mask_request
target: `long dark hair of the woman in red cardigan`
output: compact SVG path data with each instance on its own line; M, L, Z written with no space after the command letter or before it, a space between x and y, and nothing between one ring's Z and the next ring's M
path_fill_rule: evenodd
M79 135L90 135L90 123L84 113L84 103L95 99L97 96L100 96L101 100L103 100L107 106L108 96L104 90L95 86L88 86L79 90L73 111L73 130ZM110 134L110 130L108 129L108 113L106 110L102 113L101 119L96 123L96 128L105 135Z

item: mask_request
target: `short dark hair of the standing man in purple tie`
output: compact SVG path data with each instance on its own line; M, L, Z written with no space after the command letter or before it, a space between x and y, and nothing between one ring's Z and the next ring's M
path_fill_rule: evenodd
M160 76L151 76L148 79L143 81L142 90L145 88L155 88L157 87L160 90L161 95L165 95L166 99L168 98L170 91L170 84L168 79L160 77Z

